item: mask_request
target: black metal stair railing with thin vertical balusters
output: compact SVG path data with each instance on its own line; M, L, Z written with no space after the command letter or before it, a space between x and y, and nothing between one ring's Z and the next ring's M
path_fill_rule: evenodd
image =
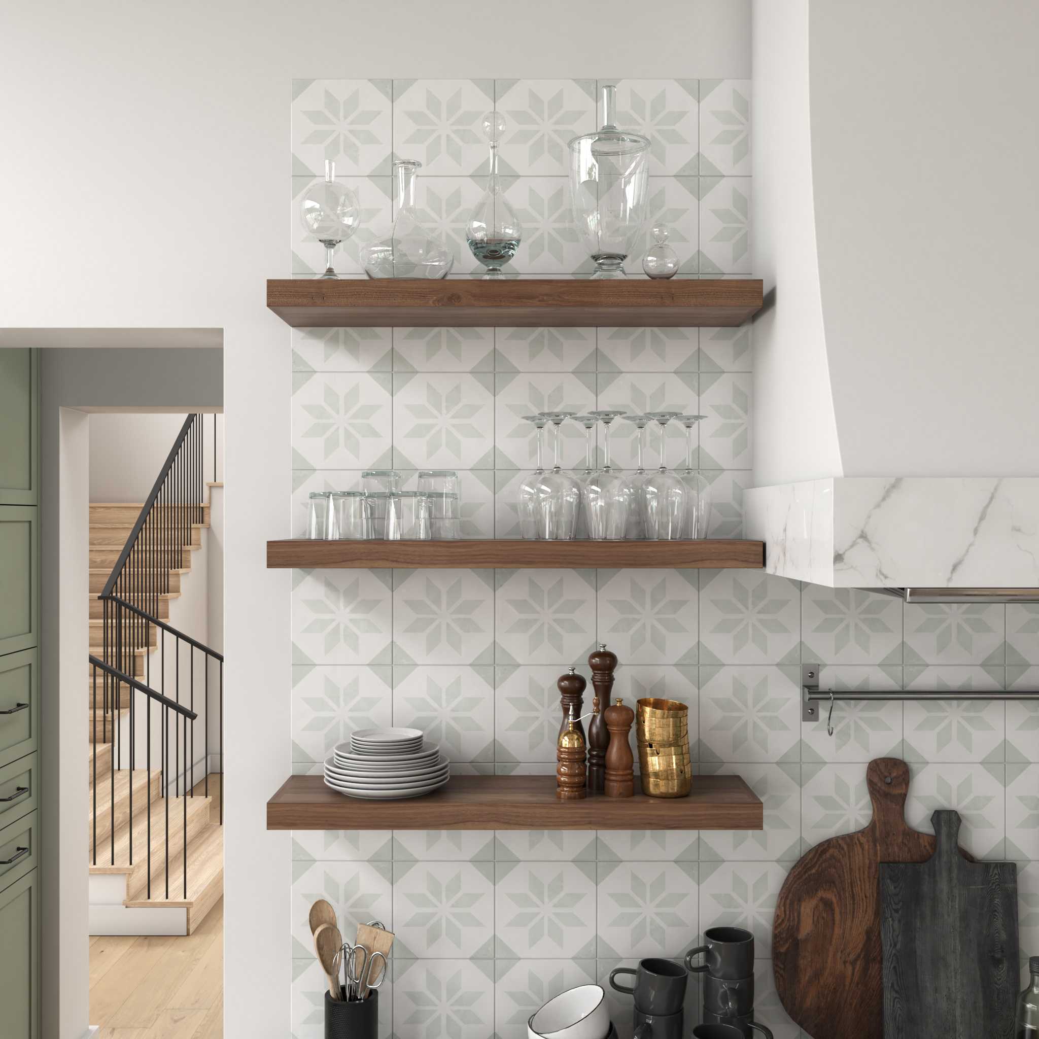
M109 864L134 864L134 770L143 764L148 776L144 794L146 825L141 835L148 849L149 899L152 898L153 757L158 760L160 793L164 804L163 872L164 897L167 899L171 798L181 800L181 888L182 897L185 900L188 897L188 801L194 797L195 768L199 766L196 739L197 749L203 755L199 767L204 769L205 796L209 796L211 747L214 745L219 754L217 771L223 771L223 656L159 617L161 604L168 602L167 596L175 591L174 576L177 579L176 590L180 589L181 575L188 568L185 566L185 553L190 553L190 547L196 543L196 531L201 538L201 525L206 520L204 492L208 452L204 450L203 420L202 415L189 415L185 420L112 567L111 576L98 596L103 604L102 652L101 659L90 657L91 739L95 748L92 862L98 864L97 748L99 743L110 743ZM216 432L214 415L214 482L217 478ZM154 676L153 659L158 672ZM141 709L143 717L140 716ZM153 718L153 711L158 713L158 718ZM198 726L202 726L201 734L196 734ZM116 772L124 765L129 768L127 849L126 862L116 863ZM222 775L218 799L219 821L222 824Z

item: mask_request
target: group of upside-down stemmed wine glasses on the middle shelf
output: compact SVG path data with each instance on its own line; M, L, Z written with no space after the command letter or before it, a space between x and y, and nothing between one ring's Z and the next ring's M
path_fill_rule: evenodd
M568 541L588 537L598 541L686 540L708 535L711 490L695 468L695 431L701 415L649 411L627 415L598 410L538 411L524 416L536 432L537 464L520 485L520 532L532 540ZM637 468L625 474L615 470L610 457L610 430L617 419L635 425ZM561 433L565 422L585 430L585 467L572 475L563 472ZM666 463L667 426L680 422L686 429L686 468L669 470ZM595 432L603 427L603 464L595 464ZM644 467L646 430L660 436L660 465L654 473ZM553 430L551 470L544 468L544 430Z

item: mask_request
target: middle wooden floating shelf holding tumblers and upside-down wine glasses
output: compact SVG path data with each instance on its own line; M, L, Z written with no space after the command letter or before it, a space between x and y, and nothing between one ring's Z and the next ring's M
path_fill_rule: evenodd
M312 541L267 542L268 568L530 569L532 567L762 569L764 541Z

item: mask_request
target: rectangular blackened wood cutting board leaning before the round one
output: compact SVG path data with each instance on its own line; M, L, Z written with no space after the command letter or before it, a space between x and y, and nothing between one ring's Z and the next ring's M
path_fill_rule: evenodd
M959 812L931 822L933 857L880 863L884 1039L1013 1039L1017 869L968 862Z

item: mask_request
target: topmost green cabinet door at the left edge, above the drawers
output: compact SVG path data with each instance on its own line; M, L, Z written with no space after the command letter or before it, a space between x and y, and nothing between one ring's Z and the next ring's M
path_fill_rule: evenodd
M35 350L0 347L0 505L39 501L38 380Z

